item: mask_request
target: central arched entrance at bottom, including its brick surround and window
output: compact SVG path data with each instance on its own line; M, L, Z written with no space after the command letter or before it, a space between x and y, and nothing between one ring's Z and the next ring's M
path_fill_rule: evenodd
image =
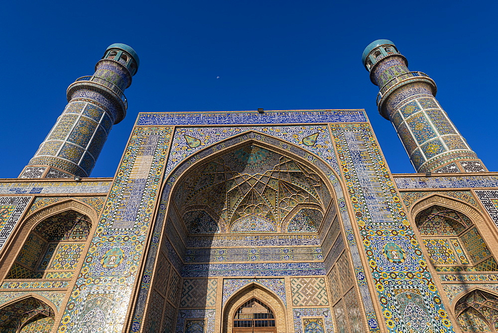
M254 283L227 302L222 332L284 333L287 332L285 323L285 308L281 300Z

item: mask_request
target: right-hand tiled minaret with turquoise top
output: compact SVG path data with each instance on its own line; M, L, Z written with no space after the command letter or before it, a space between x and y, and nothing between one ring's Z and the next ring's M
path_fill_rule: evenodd
M378 111L391 121L417 172L487 171L434 98L436 83L425 73L410 72L393 42L373 41L362 61L380 87Z

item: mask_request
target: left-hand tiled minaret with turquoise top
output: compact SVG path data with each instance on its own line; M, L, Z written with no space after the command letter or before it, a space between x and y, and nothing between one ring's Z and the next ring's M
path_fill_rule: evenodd
M113 124L126 115L124 89L138 69L136 52L112 44L92 76L67 88L68 104L19 178L88 177Z

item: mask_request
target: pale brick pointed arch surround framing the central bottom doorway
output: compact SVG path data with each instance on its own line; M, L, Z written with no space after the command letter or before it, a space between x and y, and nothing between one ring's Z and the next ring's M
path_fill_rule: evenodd
M287 327L286 310L282 300L271 290L253 281L232 295L222 308L222 332L231 333L234 328L234 317L246 303L256 299L263 303L274 314L275 327L278 332L290 332Z

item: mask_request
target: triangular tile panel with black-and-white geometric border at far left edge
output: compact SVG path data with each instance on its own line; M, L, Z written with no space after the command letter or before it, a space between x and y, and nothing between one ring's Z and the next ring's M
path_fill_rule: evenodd
M31 198L31 196L0 196L0 249Z

